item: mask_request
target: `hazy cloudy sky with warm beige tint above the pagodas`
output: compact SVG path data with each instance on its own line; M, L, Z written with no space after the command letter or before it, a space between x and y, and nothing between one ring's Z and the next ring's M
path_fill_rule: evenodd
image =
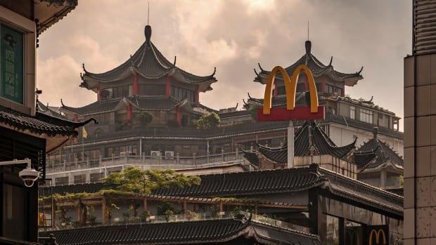
M66 18L46 30L37 49L37 86L41 100L70 106L96 101L96 93L79 88L82 63L105 72L129 58L145 41L146 0L79 0ZM262 97L253 82L264 69L287 67L312 53L340 72L364 79L346 88L353 98L369 99L403 116L403 58L411 53L409 0L223 0L150 1L151 40L177 65L198 75L217 67L213 91L200 101L214 109L234 107L247 93Z

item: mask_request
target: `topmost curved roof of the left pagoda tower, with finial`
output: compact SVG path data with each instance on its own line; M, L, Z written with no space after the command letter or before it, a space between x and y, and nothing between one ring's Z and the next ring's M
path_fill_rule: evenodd
M131 55L128 60L120 66L103 73L92 73L87 71L84 67L84 74L82 74L83 88L95 90L98 82L118 81L129 77L132 74L139 74L146 79L159 79L167 75L184 82L186 84L195 84L199 86L200 91L212 90L210 84L217 81L214 77L215 71L208 76L198 76L190 72L186 72L176 66L176 59L174 62L169 62L167 58L160 53L158 48L150 40L151 27L146 26L146 41L139 47L139 49Z

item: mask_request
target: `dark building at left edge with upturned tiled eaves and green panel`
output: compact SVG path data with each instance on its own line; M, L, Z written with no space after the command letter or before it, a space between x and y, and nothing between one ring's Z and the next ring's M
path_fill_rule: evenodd
M0 1L0 244L38 242L46 153L87 122L51 117L35 106L38 37L76 6L77 0Z

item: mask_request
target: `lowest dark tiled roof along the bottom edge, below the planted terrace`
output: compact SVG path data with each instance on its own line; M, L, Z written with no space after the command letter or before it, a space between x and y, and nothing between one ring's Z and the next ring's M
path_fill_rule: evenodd
M53 234L59 244L217 244L243 237L257 244L319 244L318 236L259 223L250 218L224 218L169 223L101 225L70 230L41 232Z

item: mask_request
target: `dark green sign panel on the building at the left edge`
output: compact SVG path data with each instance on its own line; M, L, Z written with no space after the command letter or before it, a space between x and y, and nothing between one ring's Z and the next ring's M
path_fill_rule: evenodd
M0 97L23 104L23 33L0 26Z

